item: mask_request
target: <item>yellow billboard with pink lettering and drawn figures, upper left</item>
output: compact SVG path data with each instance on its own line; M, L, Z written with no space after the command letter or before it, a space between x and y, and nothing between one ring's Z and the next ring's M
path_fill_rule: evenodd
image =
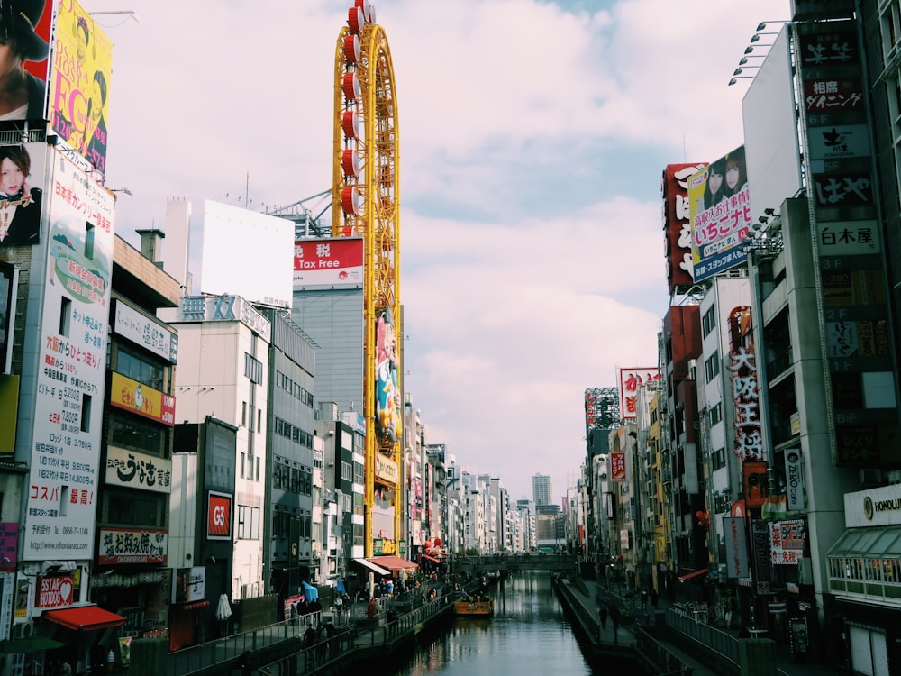
M60 0L53 40L50 127L103 174L113 42L76 0Z

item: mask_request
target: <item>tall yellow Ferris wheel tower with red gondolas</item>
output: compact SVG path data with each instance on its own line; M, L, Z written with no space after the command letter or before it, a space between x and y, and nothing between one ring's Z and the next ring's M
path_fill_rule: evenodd
M401 538L399 138L387 37L368 0L355 0L335 50L332 236L363 240L366 556L377 502L394 507L394 534L383 537L382 552L397 553Z

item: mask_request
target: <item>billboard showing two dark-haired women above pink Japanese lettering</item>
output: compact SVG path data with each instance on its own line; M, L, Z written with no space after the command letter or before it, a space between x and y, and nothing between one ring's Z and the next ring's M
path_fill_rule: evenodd
M744 146L688 179L688 208L695 281L748 260L743 242L751 229L751 193Z

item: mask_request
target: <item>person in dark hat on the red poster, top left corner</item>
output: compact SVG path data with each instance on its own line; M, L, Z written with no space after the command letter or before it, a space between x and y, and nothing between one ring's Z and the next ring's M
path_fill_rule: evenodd
M44 116L46 86L25 70L47 59L47 41L34 31L45 0L0 0L0 120Z

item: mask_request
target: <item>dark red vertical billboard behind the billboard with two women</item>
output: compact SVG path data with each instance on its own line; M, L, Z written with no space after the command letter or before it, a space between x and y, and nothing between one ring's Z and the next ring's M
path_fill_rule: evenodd
M688 178L705 166L704 163L668 164L663 170L663 230L666 233L667 283L670 292L694 282Z

